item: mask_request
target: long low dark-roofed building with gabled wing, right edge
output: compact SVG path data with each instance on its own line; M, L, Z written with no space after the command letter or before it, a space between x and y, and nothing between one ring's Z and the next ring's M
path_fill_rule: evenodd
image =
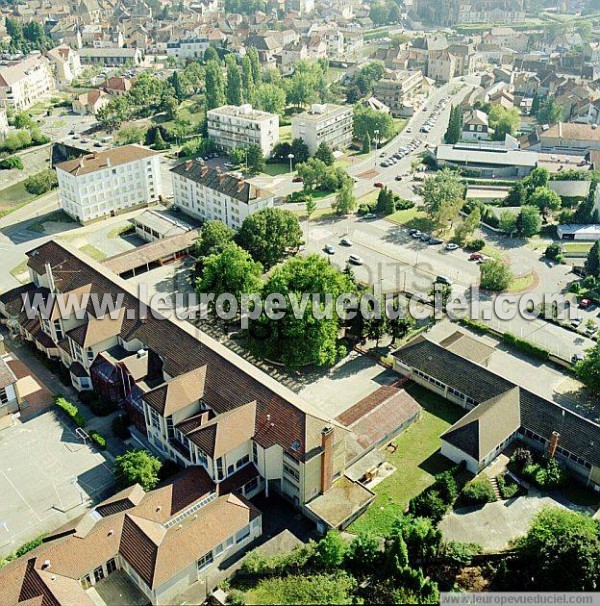
M442 454L478 473L521 440L600 492L600 425L491 372L476 361L488 346L466 338L472 359L424 337L394 353L397 372L469 411L442 435Z

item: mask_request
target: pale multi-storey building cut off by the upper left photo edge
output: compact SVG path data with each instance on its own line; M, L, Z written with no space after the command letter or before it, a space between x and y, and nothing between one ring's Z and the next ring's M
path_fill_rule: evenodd
M52 66L40 53L0 68L0 102L5 109L29 109L54 89Z

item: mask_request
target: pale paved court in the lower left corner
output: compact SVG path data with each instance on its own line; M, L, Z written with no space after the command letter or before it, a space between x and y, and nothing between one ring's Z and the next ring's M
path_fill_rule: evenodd
M0 431L0 555L84 513L113 489L111 465L50 410Z

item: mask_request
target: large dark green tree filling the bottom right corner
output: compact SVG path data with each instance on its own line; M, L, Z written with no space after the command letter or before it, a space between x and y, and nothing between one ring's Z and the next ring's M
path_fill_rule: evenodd
M547 507L517 541L518 567L536 591L597 591L600 524L580 513Z

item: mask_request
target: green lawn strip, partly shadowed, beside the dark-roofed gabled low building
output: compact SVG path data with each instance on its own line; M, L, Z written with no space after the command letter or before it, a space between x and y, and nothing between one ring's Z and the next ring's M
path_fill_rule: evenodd
M437 452L439 436L464 411L418 385L409 385L406 391L423 407L421 418L394 440L395 452L382 451L396 471L373 488L375 501L349 527L350 532L385 535L408 502L433 484L436 474L453 465Z

